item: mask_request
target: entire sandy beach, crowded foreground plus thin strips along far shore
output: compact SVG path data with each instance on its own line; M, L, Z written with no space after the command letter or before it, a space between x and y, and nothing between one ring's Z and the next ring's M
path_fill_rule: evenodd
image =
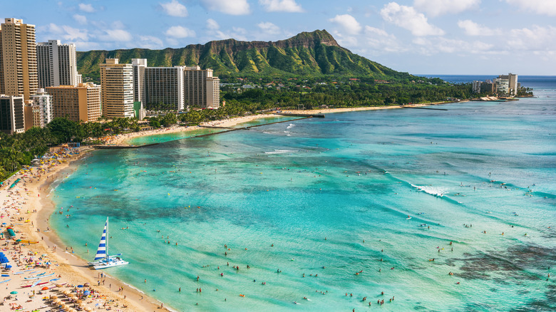
M433 104L433 103L431 103ZM425 105L431 105L425 104ZM418 105L423 106L423 105ZM401 106L369 108L334 108L319 110L288 110L288 113L341 113L358 110L381 110ZM249 115L227 120L203 123L212 127L233 127L259 118L274 117L274 114ZM170 128L133 132L113 136L108 144L125 145L132 137L182 132L200 127L173 126ZM11 269L4 270L0 278L0 296L4 305L13 310L36 311L40 308L66 308L71 311L158 311L163 304L145 293L123 284L102 271L90 269L86 261L72 254L56 232L49 229L48 217L55 205L50 199L53 187L71 175L75 168L72 162L86 157L91 147L59 150L57 159L45 160L41 167L20 170L0 186L2 231L11 227L16 235L12 239L3 237L2 252L9 259ZM14 187L16 180L20 179ZM21 239L16 242L16 239ZM96 246L91 246L95 249ZM36 282L38 281L38 282ZM36 283L35 283L36 282ZM5 287L4 287L5 286ZM29 286L29 287L22 287ZM89 293L84 293L89 291ZM57 298L53 298L56 296ZM61 300L60 302L57 301ZM71 308L70 308L71 307ZM163 307L163 309L167 309ZM55 310L56 311L56 310Z

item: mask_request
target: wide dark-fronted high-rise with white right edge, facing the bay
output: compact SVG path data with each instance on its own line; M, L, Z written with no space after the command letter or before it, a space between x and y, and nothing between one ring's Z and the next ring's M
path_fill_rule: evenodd
M183 68L145 68L145 109L183 110Z

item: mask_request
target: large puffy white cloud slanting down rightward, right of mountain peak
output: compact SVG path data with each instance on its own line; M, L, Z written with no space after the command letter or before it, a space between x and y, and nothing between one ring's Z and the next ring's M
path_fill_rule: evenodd
M412 6L401 6L390 2L381 9L381 16L385 21L406 28L414 36L442 36L441 28L428 24L427 18L413 9Z

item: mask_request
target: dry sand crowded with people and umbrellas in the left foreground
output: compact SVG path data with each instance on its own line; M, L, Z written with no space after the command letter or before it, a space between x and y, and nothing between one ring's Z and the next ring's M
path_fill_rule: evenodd
M71 269L56 246L47 246L50 229L38 228L38 191L86 150L61 147L0 184L0 311L145 311L128 308L121 293L95 287L91 277Z

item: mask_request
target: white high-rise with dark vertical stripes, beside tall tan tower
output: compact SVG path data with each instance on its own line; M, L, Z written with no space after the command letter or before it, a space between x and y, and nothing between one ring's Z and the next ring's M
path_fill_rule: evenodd
M48 40L36 45L38 88L78 85L76 45Z

